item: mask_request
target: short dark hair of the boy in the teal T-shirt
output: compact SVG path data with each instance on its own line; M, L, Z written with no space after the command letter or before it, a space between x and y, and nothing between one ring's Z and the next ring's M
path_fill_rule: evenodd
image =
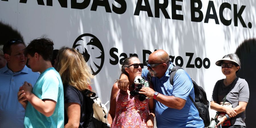
M48 38L37 38L30 42L25 48L24 55L31 55L34 57L38 53L45 61L51 61L53 54L53 42Z

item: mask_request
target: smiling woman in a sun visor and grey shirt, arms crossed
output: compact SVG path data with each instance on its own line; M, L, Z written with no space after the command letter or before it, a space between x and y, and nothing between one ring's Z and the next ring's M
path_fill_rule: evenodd
M245 108L249 100L249 87L245 79L236 77L241 68L236 54L225 55L215 63L221 66L225 79L214 86L210 108L218 111L217 126L222 128L245 128Z

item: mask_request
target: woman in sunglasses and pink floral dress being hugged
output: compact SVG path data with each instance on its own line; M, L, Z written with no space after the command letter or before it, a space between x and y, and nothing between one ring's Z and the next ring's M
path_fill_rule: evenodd
M116 82L111 91L108 123L112 128L154 127L154 99L139 100L139 95L131 96L134 79L141 76L144 67L138 57L129 57L123 61L121 72L128 76L129 86L126 91L118 89ZM153 88L150 85L150 88Z

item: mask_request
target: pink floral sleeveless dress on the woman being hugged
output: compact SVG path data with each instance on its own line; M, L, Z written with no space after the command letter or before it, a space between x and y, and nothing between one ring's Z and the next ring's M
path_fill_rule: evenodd
M123 95L120 90L116 97L115 118L112 128L146 128L149 115L148 102L139 100L139 95Z

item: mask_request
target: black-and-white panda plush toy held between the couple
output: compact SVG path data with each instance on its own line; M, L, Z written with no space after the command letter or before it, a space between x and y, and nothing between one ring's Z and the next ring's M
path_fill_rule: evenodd
M135 77L134 84L131 87L134 88L134 90L130 92L130 94L132 96L139 95L139 100L140 101L143 101L145 99L149 99L146 95L139 94L139 90L142 87L149 87L149 82L145 81L143 77L141 77L141 76Z

